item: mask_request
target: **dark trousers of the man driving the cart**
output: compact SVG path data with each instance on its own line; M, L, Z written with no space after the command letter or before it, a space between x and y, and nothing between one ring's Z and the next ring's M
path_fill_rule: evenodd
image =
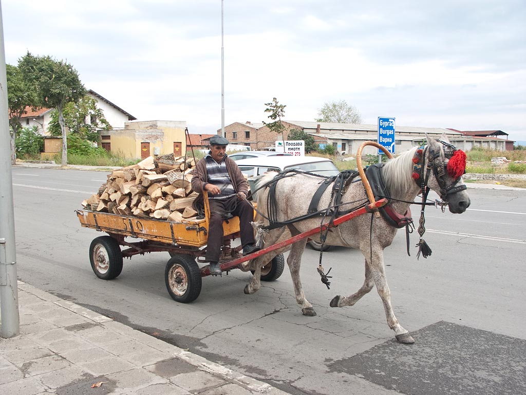
M254 228L250 222L254 221L254 209L246 200L239 200L237 196L227 199L209 199L210 223L208 226L208 245L206 248L206 260L218 262L223 244L223 220L228 218L228 213L239 216L239 229L241 233L241 245L254 243Z

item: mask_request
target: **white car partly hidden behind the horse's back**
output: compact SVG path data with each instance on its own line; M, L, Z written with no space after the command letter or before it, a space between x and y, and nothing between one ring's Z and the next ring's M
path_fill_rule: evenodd
M252 151L254 152L254 151ZM230 155L229 155L230 156ZM254 186L257 179L268 171L283 171L298 169L317 173L321 175L338 175L340 171L330 159L316 156L272 156L255 157L238 160L237 165L242 173L247 174L250 186ZM321 251L321 243L314 240L308 242L310 248ZM323 245L323 251L327 251L331 246Z

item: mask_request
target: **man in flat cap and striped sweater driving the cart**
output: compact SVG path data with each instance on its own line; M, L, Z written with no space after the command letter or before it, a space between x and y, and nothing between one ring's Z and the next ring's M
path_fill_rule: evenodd
M221 274L219 256L223 243L223 220L239 216L239 229L243 254L259 250L254 244L254 209L247 201L248 182L235 161L226 154L228 140L216 135L210 137L210 151L197 162L192 177L192 189L200 194L208 192L210 220L206 260L210 274ZM201 195L202 196L202 195Z

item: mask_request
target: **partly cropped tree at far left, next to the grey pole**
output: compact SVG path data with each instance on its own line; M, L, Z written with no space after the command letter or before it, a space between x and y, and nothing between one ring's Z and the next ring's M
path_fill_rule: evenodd
M22 130L20 118L26 113L26 106L34 106L36 96L34 90L24 79L24 75L16 66L6 64L7 106L9 111L9 126L11 127L11 163L16 164L16 136Z

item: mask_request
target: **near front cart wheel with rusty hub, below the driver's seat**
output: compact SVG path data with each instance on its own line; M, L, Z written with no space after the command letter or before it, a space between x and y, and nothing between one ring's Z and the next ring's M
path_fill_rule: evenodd
M190 303L201 292L201 271L194 258L185 254L174 254L165 270L166 289L177 302Z

